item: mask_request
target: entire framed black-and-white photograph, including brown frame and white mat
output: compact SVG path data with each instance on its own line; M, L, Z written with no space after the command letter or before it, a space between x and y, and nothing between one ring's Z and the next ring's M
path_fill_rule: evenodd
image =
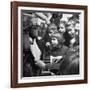
M17 2L13 7L12 82L21 86L86 82L86 7Z

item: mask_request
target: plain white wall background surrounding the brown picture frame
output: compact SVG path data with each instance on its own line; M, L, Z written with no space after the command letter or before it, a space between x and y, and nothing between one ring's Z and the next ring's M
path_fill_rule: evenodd
M10 1L11 0L1 0L0 1L0 90L9 90L10 88ZM25 1L25 0L20 0ZM33 2L47 2L47 3L60 3L60 4L80 4L88 5L88 16L90 16L90 0L27 0ZM90 23L90 17L88 17L88 23ZM88 38L90 38L90 26L88 26ZM88 40L88 46L90 46L90 41ZM88 53L90 53L90 47L88 47ZM88 55L90 59L90 55ZM88 60L89 60L88 59ZM90 61L88 61L90 64ZM90 68L90 65L88 65ZM88 70L88 76L90 76L90 70ZM90 90L90 77L88 84L79 85L62 85L62 86L49 86L49 87L35 87L27 88L26 90ZM20 90L24 90L20 89ZM12 89L11 89L12 90ZM19 89L15 89L19 90Z

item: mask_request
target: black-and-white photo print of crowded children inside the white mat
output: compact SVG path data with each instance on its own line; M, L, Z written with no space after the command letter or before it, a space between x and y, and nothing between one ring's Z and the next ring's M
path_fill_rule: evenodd
M80 13L21 11L22 76L77 75Z

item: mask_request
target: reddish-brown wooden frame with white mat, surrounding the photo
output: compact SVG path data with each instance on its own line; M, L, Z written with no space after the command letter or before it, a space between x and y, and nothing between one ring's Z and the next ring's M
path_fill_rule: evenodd
M31 77L28 77L24 73L23 70L27 69L24 67L24 64L23 64L24 56L26 54L23 51L24 50L24 46L23 46L24 45L23 44L24 28L25 28L25 30L27 30L26 29L27 27L25 27L25 25L28 26L29 19L27 19L27 17L30 17L32 19L32 16L34 16L36 18L36 19L34 18L35 20L37 20L37 16L39 18L41 18L40 15L38 14L38 12L39 12L39 14L43 14L45 12L44 14L46 16L47 15L51 15L51 16L55 15L55 14L52 15L52 13L58 13L57 15L61 15L61 13L62 13L65 16L70 16L70 15L72 16L74 14L75 15L78 14L78 16L80 16L80 19L78 19L80 21L80 23L79 23L80 24L80 34L79 34L79 36L80 36L79 37L80 57L78 59L80 65L79 65L79 74L78 75L76 75L76 74L75 75L74 74L56 75L56 73L54 75L52 75L52 73L50 72L50 76L48 76L48 75L43 76L40 74L41 76L33 76L32 75ZM27 16L27 17L25 17L25 16ZM44 18L44 16L42 16L42 17L43 17L43 21L45 21L46 19ZM58 16L58 17L60 17L60 16ZM27 21L26 21L26 23L24 23L24 20L26 20L26 19L27 19ZM88 19L87 6L84 6L84 5L33 3L33 2L17 2L17 1L11 2L11 87L18 88L18 87L36 87L36 86L53 86L53 85L87 83L87 81L88 81L88 72L87 72L87 63L88 63L87 62L87 25L88 25L88 23L87 23L87 19ZM35 21L35 20L34 20L34 23L36 25L37 21ZM49 19L49 20L51 20L51 19ZM51 22L53 22L53 20L54 19L52 19ZM58 21L58 20L56 20L56 21ZM40 21L38 21L38 22L40 23ZM45 23L46 22L50 23L48 20L46 20ZM29 25L31 25L31 24L29 23ZM34 32L34 33L36 33L36 32ZM32 34L30 34L30 35L32 35ZM34 50L33 53L36 53L36 52L37 51ZM47 50L46 50L46 52L47 52ZM36 53L36 57L38 57L37 56L38 53L39 52ZM44 57L42 57L42 58L44 60L46 60L47 58L45 56L45 53L43 53L43 55L44 55ZM30 56L30 58L31 58L31 56ZM40 65L40 63L39 63L39 65ZM57 64L56 64L56 66L57 66ZM40 70L42 70L42 69L40 69Z

